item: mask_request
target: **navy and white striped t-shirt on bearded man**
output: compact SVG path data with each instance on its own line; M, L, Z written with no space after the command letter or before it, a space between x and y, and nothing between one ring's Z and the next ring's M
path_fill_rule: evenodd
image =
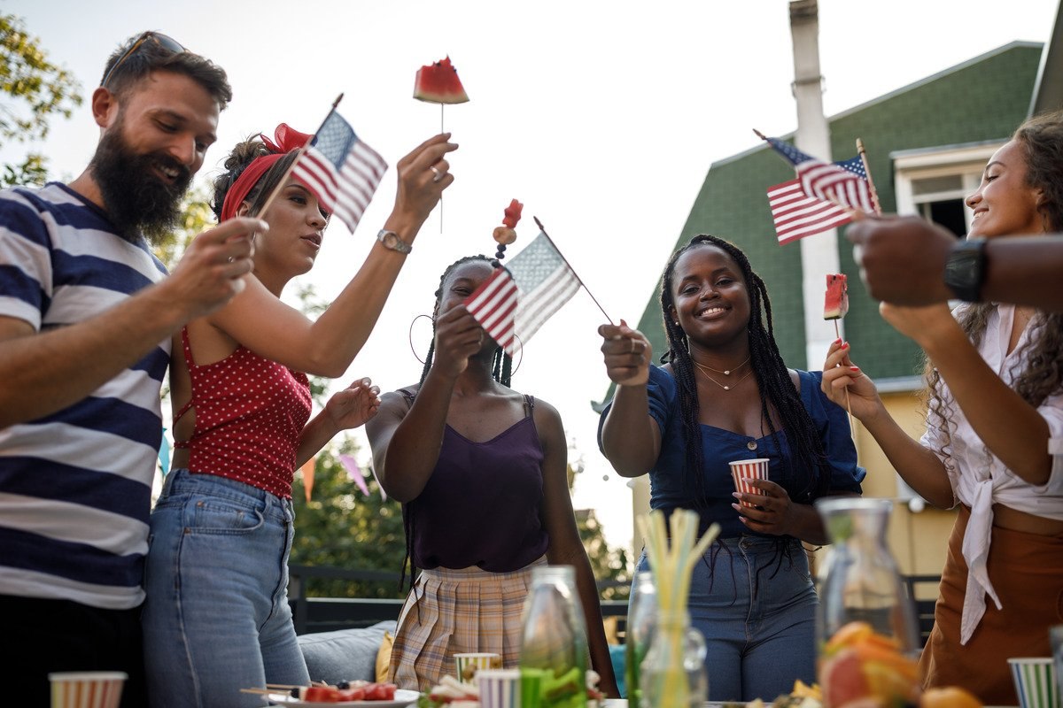
M47 331L165 275L147 244L115 235L64 185L0 191L0 315ZM167 340L70 408L0 429L0 594L108 609L142 602L169 359Z

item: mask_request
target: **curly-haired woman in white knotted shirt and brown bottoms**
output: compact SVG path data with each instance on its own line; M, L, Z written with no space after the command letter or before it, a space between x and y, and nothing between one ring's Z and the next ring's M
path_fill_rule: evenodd
M1019 126L966 204L973 243L1063 228L1063 113ZM831 346L823 390L843 401L848 388L853 415L927 501L959 504L924 685L1013 705L1007 659L1049 656L1063 620L1063 315L996 303L881 312L927 356L923 438L885 412L847 343Z

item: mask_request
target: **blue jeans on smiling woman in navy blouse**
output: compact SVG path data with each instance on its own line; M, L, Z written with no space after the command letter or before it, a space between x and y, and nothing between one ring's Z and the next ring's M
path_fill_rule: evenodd
M691 624L708 645L709 701L771 703L815 679L817 598L800 541L723 538L694 566ZM648 568L645 553L639 570Z

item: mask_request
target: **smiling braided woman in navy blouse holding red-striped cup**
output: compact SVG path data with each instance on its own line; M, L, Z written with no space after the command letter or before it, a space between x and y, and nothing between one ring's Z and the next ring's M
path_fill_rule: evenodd
M812 502L860 494L864 476L846 413L820 391L820 373L787 368L764 282L732 243L697 236L677 251L660 301L660 367L641 332L598 328L617 384L602 451L623 477L649 473L653 508L694 510L703 533L722 528L689 597L711 657L709 700L788 693L795 678L815 677L816 595L802 541L827 538ZM752 482L758 494L736 493L727 463L756 457L770 460L769 479Z

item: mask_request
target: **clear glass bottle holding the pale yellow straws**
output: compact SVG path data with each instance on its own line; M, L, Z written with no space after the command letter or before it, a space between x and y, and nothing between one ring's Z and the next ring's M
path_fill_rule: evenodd
M690 626L689 612L658 609L642 660L639 708L702 708L709 697L707 654L702 633Z

